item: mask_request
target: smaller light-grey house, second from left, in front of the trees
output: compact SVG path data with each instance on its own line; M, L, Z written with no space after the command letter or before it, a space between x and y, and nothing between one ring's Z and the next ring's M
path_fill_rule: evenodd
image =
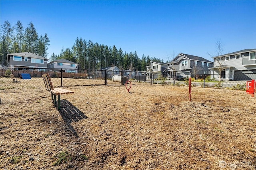
M67 59L57 59L55 61L48 63L48 68L53 68L55 70L57 69L58 71L60 71L60 69L63 69L63 72L66 73L75 73L77 67L77 63L74 63Z

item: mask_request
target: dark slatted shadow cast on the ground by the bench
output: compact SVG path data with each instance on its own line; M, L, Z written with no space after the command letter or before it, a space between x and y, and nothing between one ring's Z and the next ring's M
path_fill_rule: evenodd
M66 99L60 100L60 105L61 109L59 110L59 113L62 116L62 119L66 123L71 133L78 138L76 130L70 124L72 122L78 122L82 119L87 119L88 117Z

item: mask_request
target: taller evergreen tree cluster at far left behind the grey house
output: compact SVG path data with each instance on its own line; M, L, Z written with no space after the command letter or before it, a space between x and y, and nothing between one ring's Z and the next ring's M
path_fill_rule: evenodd
M46 33L38 36L32 22L24 28L20 20L15 26L8 20L4 21L0 32L0 63L7 64L8 53L31 52L46 58L49 42Z

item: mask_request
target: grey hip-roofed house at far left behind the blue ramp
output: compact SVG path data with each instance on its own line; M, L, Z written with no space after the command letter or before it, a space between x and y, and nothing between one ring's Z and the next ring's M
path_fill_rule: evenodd
M7 54L8 67L20 68L47 68L49 59L30 52L10 53Z

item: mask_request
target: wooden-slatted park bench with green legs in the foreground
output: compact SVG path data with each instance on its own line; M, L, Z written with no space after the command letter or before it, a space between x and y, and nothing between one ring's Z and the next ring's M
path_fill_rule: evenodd
M42 75L44 79L44 85L46 90L50 91L52 94L52 101L54 105L57 105L58 110L60 110L60 95L74 93L73 91L62 89L62 88L53 88L51 77L49 73L45 73ZM56 95L58 96L58 103L56 101Z

